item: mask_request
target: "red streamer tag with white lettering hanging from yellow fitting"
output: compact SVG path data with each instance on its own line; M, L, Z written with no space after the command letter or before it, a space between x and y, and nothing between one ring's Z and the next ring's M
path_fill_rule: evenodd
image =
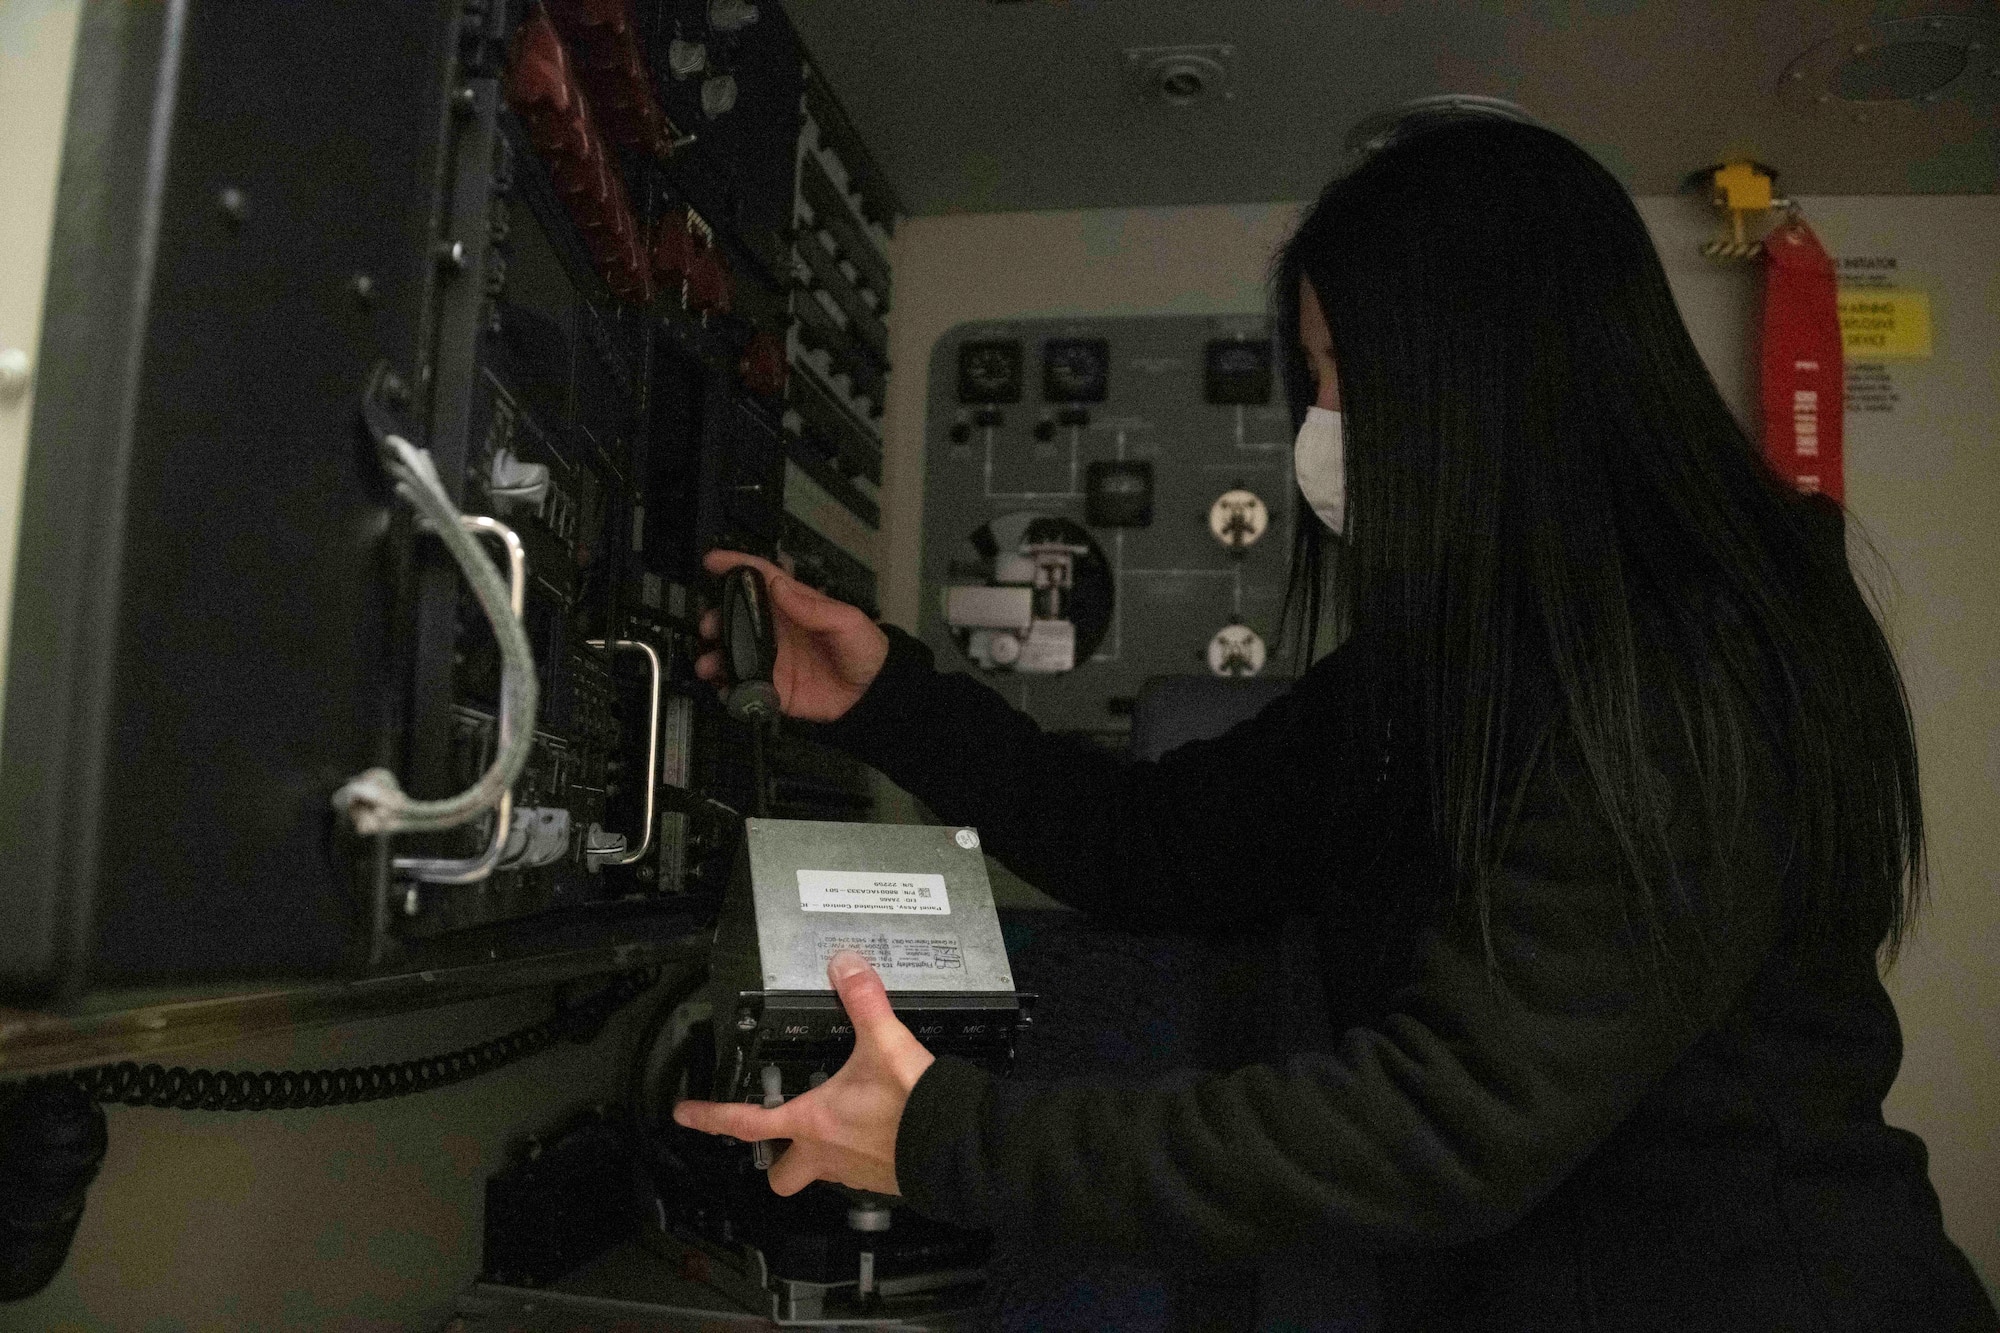
M1800 490L1842 502L1840 304L1834 260L1812 228L1764 238L1764 456Z

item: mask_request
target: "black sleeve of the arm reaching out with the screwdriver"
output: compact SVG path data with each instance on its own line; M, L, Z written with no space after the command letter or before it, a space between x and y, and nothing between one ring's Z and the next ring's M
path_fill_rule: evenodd
M1230 733L1126 763L1042 733L884 628L882 673L820 737L938 819L978 829L1000 863L1072 907L1140 929L1254 929L1324 893L1326 849L1342 825L1368 823L1360 811L1382 755L1346 753L1358 747L1346 739L1340 652Z

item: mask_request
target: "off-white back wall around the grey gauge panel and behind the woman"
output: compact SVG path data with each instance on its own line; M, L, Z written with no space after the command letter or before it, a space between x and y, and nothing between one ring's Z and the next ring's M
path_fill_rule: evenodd
M1902 402L1848 416L1848 506L1886 570L1884 618L1916 707L1934 893L1888 975L1904 1067L1888 1117L1930 1145L1946 1227L2000 1291L2000 198L1822 198L1836 256L1896 256L1930 292L1936 354L1896 366ZM1724 396L1756 392L1754 276L1702 260L1704 204L1640 200L1682 312ZM926 368L962 320L1232 314L1296 204L912 218L896 234L882 512L882 612L916 626ZM1866 554L1856 560L1864 572ZM998 867L996 867L998 871ZM996 875L1010 901L1034 901ZM1046 901L1046 899L1042 899Z

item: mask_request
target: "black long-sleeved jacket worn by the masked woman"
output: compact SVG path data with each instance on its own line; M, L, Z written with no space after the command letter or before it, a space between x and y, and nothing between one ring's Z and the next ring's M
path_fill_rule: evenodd
M1560 735L1482 929L1434 891L1428 807L1358 739L1350 675L1336 652L1228 735L1124 765L890 630L826 739L1088 913L1310 913L1344 1029L1284 1069L1154 1085L940 1059L898 1133L908 1201L1180 1271L1372 1253L1388 1329L2000 1329L1922 1141L1882 1121L1902 1035L1880 939L1824 961L1784 925L1776 763L1728 847L1698 801L1676 817L1698 871L1648 969Z

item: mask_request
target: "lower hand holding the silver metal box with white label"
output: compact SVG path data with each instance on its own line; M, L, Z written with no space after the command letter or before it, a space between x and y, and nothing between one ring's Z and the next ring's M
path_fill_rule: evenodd
M910 1089L936 1059L890 1009L868 959L842 949L826 965L840 1005L854 1019L854 1055L832 1079L766 1111L740 1101L684 1101L674 1121L744 1143L790 1139L770 1169L770 1187L796 1195L812 1181L836 1181L878 1195L896 1189L896 1129Z

